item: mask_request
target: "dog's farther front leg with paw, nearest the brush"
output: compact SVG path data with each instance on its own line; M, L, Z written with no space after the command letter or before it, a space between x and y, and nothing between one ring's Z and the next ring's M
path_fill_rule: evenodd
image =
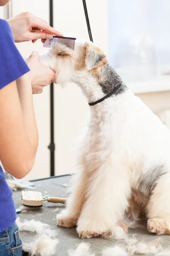
M57 215L57 225L73 228L77 225L82 206L85 201L85 189L88 180L87 172L82 168L74 177L72 192L67 200L66 209Z

